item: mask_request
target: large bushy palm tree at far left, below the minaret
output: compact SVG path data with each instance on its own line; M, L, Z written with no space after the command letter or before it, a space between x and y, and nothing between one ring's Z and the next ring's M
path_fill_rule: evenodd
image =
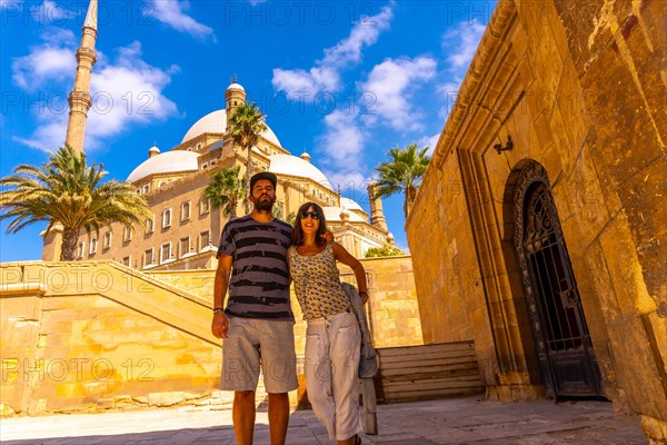
M151 217L143 197L129 182L102 184L102 165L87 165L86 155L70 146L60 148L41 168L20 165L13 175L0 179L0 220L13 218L8 233L34 222L47 221L47 234L62 226L61 261L74 259L79 233L99 233L101 226L119 221L126 227Z

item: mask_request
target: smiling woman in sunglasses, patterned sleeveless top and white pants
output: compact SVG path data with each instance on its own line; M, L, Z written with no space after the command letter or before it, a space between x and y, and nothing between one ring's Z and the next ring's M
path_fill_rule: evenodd
M299 208L287 250L291 279L301 305L306 330L306 388L312 411L338 445L361 439L357 369L361 336L350 298L342 289L336 261L355 271L366 304L368 288L364 266L342 246L327 244L322 208L306 202Z

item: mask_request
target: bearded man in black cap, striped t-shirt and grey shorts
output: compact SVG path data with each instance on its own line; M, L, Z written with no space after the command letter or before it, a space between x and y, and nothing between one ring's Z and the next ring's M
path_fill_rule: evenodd
M273 218L276 175L250 178L250 215L227 222L218 249L211 330L222 343L220 387L233 390L232 421L239 445L252 444L259 368L269 394L272 445L285 444L288 392L298 387L289 299L287 248L291 226ZM334 239L331 233L326 236ZM229 286L229 299L223 309Z

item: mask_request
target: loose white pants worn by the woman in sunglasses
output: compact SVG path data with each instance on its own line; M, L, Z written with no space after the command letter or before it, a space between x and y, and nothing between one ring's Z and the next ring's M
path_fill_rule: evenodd
M357 378L360 347L361 334L355 314L308 320L308 400L330 439L345 441L362 432Z

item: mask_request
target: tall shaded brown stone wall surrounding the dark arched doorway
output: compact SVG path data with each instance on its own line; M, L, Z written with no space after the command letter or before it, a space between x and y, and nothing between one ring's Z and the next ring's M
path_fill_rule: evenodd
M407 221L425 339L474 339L491 398L542 396L514 200L521 171L544 168L603 394L656 443L667 438L664 17L655 0L500 1Z

